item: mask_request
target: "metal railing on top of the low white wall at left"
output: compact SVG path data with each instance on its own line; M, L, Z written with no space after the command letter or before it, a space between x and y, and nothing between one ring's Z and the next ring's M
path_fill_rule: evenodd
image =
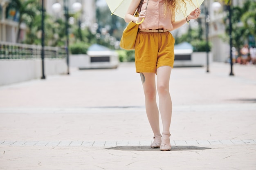
M16 44L10 42L0 42L1 59L39 59L41 58L42 46L29 44ZM65 47L44 47L45 58L66 58Z

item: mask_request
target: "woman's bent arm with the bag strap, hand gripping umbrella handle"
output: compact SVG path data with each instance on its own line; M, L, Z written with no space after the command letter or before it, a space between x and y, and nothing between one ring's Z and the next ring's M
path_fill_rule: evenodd
M140 3L140 0L132 0L127 12L126 12L126 15L124 17L124 21L125 22L140 22L142 20L142 18L145 18L146 17L146 11L141 11L139 13L139 17L135 17L133 16L133 14L135 13L137 7L139 6L139 3Z

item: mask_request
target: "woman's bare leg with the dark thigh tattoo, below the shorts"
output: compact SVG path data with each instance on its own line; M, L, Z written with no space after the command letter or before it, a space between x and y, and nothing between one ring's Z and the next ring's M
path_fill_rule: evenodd
M156 102L155 73L140 73L140 76L144 89L146 113L149 124L153 130L154 136L160 135L159 111ZM155 137L155 140L161 141L161 136Z

